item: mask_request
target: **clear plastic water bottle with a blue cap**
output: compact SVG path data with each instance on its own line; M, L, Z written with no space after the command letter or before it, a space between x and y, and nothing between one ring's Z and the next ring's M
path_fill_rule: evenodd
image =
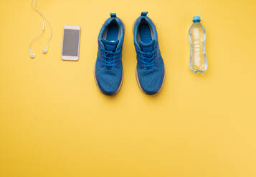
M194 16L193 24L189 29L190 69L194 74L204 73L208 67L205 52L206 34L200 21L200 16Z

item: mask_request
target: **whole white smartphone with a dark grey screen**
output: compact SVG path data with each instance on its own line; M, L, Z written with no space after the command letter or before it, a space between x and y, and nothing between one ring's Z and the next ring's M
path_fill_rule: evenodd
M80 26L64 26L62 41L62 60L78 60L80 48L80 31Z

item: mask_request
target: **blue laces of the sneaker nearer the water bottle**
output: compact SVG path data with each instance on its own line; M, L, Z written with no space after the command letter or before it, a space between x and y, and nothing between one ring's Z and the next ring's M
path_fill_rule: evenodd
M153 51L150 51L150 52L143 52L140 49L136 49L138 54L141 54L141 56L139 56L141 60L139 61L144 67L151 67L155 65L156 49L157 48L153 49Z

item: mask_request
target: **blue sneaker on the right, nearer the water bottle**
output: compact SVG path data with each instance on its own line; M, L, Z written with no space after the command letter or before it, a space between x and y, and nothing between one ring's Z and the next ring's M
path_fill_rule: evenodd
M134 46L137 52L136 78L144 93L161 90L165 76L163 59L158 46L156 26L142 12L133 24Z

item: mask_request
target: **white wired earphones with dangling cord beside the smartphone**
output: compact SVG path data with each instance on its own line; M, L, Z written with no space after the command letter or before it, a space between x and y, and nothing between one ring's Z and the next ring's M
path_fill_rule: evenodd
M32 59L34 59L34 54L32 54L31 46L32 46L34 40L37 39L37 38L39 38L40 36L42 36L42 34L44 33L45 21L46 21L47 24L49 25L49 29L50 29L50 31L51 31L51 35L49 36L49 39L48 39L48 41L47 41L47 46L46 46L46 48L43 49L43 51L42 51L43 54L46 54L46 53L47 53L48 48L49 48L49 41L51 41L51 39L52 39L52 26L51 26L51 24L49 24L49 21L45 18L45 16L44 16L40 11L38 11L38 9L37 9L37 1L38 1L38 0L36 0L36 1L35 1L35 4L33 4L33 3L34 3L34 0L32 0L32 1L31 1L31 6L32 6L32 9L34 9L34 11L37 11L37 13L38 13L40 16L42 16L43 24L42 24L42 32L41 32L41 34L39 34L39 35L36 36L34 39L32 39L32 41L31 41L30 44L29 44L29 54L30 54L30 57L31 57Z

